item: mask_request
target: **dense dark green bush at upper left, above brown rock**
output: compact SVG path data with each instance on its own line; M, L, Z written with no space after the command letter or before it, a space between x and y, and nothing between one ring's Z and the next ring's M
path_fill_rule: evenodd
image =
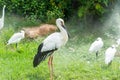
M58 17L64 17L67 9L67 1L64 0L4 0L0 1L0 7L7 5L7 11L31 19L50 21Z

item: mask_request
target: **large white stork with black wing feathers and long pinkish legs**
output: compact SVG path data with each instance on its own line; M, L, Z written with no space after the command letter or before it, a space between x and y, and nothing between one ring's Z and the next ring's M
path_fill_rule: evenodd
M37 67L49 56L48 66L51 80L53 79L53 52L65 45L68 41L68 32L63 19L56 19L56 25L60 32L52 33L39 45L37 54L33 60L33 67Z

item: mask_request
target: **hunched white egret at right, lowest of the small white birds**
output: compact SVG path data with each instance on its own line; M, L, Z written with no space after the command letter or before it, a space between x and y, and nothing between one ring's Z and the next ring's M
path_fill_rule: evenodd
M110 65L116 53L116 46L112 45L105 51L105 64Z

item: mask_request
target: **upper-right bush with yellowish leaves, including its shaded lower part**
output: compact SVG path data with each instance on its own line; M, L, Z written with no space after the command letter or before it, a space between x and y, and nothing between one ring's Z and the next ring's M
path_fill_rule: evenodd
M103 24L108 14L112 12L117 0L78 0L78 16L88 27Z

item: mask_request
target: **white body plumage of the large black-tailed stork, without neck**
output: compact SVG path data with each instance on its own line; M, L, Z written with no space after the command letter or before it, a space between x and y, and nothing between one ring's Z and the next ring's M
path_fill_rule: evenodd
M43 41L43 47L42 47L41 52L52 50L55 48L60 48L62 45L65 45L67 41L68 39L64 41L64 36L62 36L59 32L55 32L51 34L50 36L48 36Z

